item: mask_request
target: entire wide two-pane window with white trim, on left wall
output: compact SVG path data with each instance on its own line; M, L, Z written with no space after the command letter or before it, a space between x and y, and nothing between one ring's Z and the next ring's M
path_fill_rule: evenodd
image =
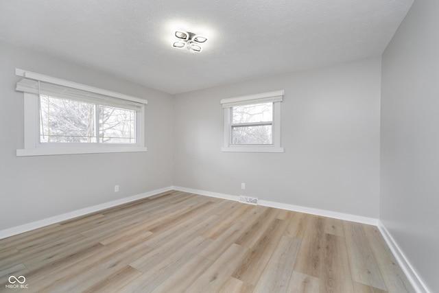
M25 148L17 156L145 151L147 101L16 69L24 76Z

